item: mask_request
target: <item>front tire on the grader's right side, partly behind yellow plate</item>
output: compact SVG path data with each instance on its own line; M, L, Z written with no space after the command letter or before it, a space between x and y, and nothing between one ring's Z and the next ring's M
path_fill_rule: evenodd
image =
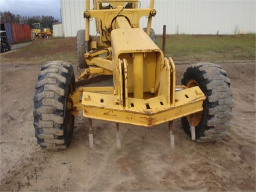
M187 68L181 80L182 85L187 85L190 79L197 82L206 96L201 120L195 127L196 141L210 142L221 139L230 127L234 106L230 79L226 71L214 63L202 62ZM182 117L181 121L183 129L191 137L187 118Z

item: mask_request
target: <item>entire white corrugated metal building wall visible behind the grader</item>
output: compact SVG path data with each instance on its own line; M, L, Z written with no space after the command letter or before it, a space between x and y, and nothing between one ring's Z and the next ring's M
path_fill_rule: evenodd
M149 0L141 0L141 8L149 7ZM92 6L92 0L91 0ZM155 0L157 14L152 28L162 34L238 34L256 33L256 1L220 0ZM61 0L61 16L65 37L76 36L84 29L85 0ZM96 35L94 21L90 34ZM140 26L147 26L141 18Z

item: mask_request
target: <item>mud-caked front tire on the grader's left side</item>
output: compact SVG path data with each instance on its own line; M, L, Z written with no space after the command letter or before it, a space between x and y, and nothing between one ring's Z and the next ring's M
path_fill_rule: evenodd
M45 63L36 83L34 128L37 143L47 149L65 149L74 130L74 116L68 113L68 94L75 91L73 66L64 61Z

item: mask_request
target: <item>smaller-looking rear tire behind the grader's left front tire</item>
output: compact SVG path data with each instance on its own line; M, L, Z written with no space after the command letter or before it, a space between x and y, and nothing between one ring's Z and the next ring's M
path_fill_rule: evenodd
M90 36L90 41L92 41L91 36ZM78 61L78 66L80 68L88 68L88 65L85 61L84 58L84 53L86 52L87 49L87 43L85 41L85 30L81 29L77 31L76 35L76 57Z

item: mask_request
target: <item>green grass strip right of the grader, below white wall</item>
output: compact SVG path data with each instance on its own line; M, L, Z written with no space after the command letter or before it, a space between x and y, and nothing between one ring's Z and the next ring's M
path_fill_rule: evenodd
M162 36L157 36L162 49ZM255 60L255 34L167 35L166 57L173 60Z

